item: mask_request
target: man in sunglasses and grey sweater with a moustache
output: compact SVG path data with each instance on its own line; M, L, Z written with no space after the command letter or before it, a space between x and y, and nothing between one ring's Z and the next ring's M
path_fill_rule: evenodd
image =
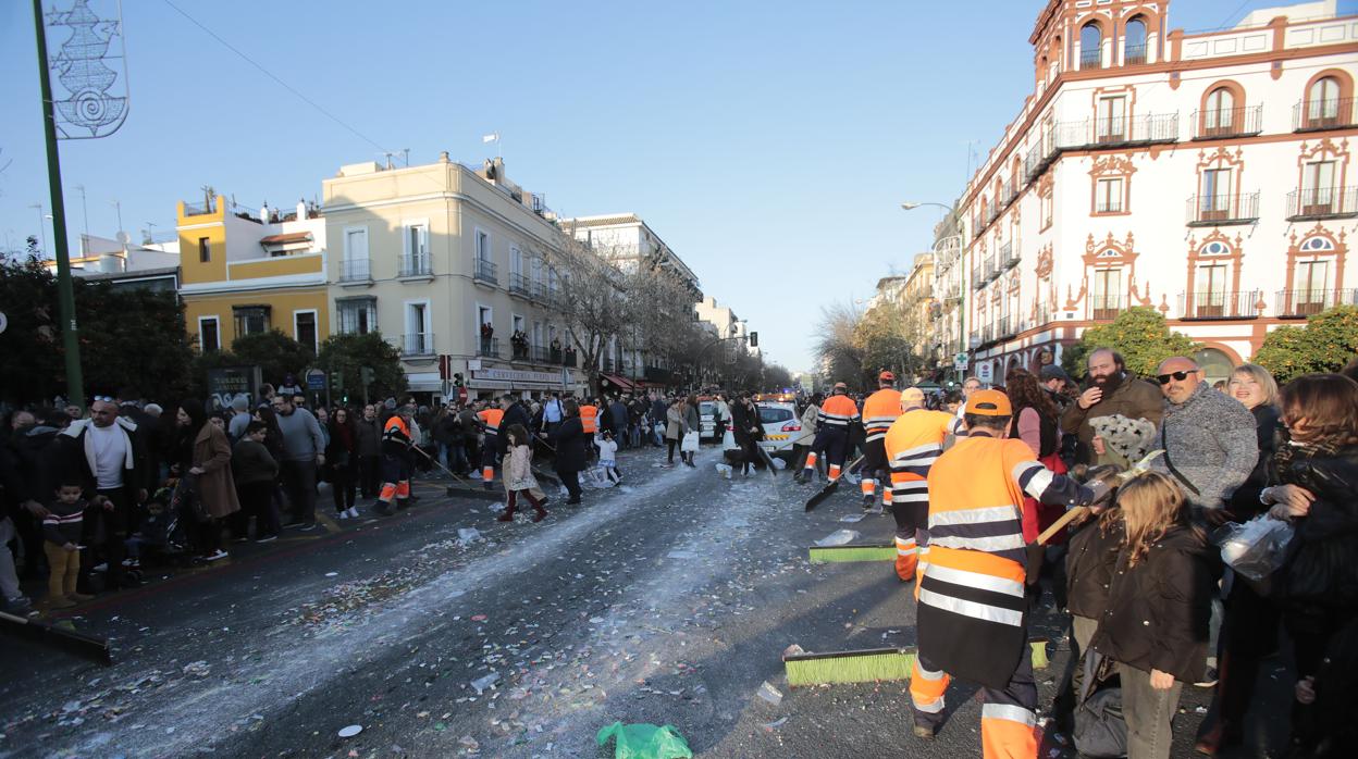
M1221 508L1259 460L1255 417L1234 398L1203 382L1202 368L1186 356L1165 358L1156 371L1164 394L1164 418L1153 467L1173 477L1199 516L1218 524Z

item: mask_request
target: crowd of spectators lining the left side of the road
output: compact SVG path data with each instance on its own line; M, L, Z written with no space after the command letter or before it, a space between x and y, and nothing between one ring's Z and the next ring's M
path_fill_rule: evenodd
M568 505L581 477L618 485L619 448L689 445L701 430L693 395L539 398L504 394L429 409L410 398L315 406L296 383L265 386L209 410L198 399L159 405L134 388L77 405L15 409L0 441L0 591L5 610L33 601L20 580L48 578L42 604L68 608L141 584L147 565L210 563L235 542L269 543L316 528L329 485L333 519L387 516L418 496L414 477L505 492L500 519L550 497L536 462L550 460ZM549 475L550 477L550 475Z

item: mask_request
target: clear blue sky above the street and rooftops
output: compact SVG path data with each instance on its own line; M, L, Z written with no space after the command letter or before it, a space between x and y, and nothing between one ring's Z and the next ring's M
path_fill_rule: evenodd
M951 202L968 149L985 155L1014 117L1044 0L985 0L979 15L919 1L174 3L348 128L164 0L125 1L128 121L61 147L73 243L77 185L92 234L117 231L117 200L137 236L172 228L175 201L205 183L288 206L382 148L479 164L493 155L481 136L498 132L513 181L562 215L641 215L773 361L801 369L822 306L866 299L928 250L940 212L899 204ZM1175 0L1171 24L1278 4ZM30 3L0 3L0 235L14 247L38 229L30 206L50 205L34 50Z

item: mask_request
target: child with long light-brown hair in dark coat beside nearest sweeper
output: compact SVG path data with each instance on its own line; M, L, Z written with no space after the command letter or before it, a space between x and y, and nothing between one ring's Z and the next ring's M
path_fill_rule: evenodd
M1215 577L1179 485L1146 473L1123 485L1126 543L1093 649L1118 664L1130 759L1167 759L1184 683L1202 680Z

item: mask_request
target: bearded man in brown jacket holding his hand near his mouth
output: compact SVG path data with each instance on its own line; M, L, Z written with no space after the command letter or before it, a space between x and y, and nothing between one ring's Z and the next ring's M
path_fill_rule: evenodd
M1111 348L1099 348L1090 353L1088 369L1088 387L1061 414L1061 432L1077 437L1076 463L1108 464L1114 460L1095 441L1095 430L1089 422L1120 414L1128 420L1160 424L1164 402L1156 392L1156 386L1130 372L1122 354Z

